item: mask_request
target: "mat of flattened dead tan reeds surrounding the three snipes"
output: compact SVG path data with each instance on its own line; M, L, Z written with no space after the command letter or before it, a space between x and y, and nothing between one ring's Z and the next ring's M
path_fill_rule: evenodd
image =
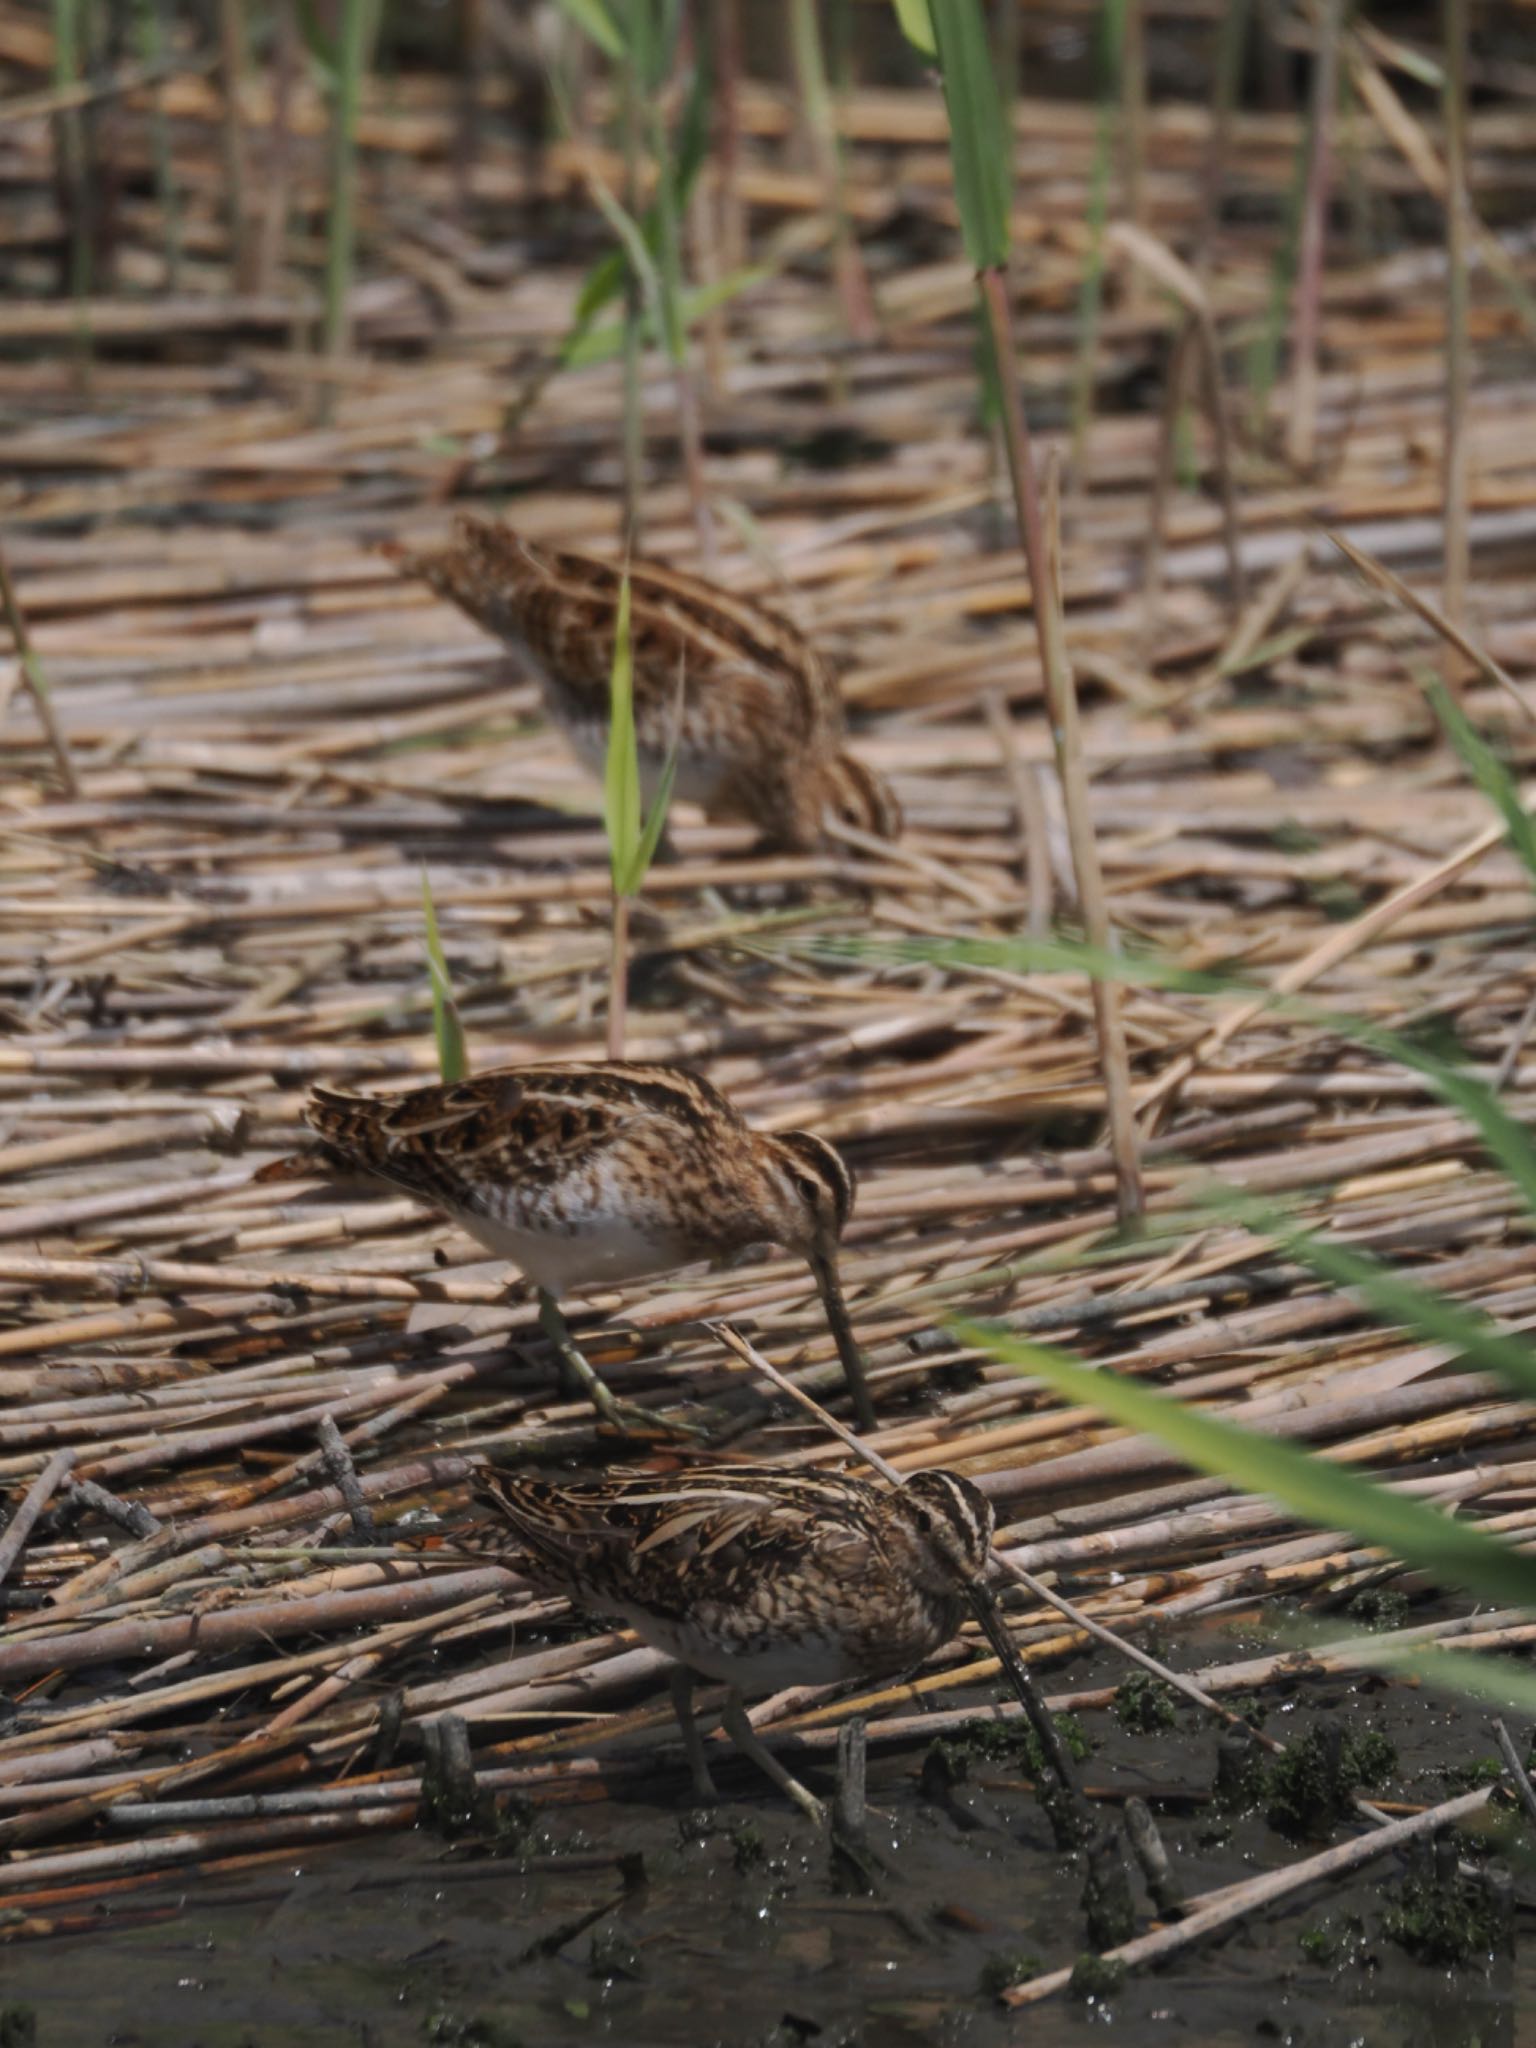
M111 295L49 297L12 252L33 285L0 360L4 551L76 778L68 791L18 666L0 668L0 1485L16 1503L49 1475L4 1589L0 1907L33 1929L170 1868L410 1825L412 1745L444 1710L467 1718L483 1786L547 1802L600 1798L672 1741L659 1659L453 1550L479 1460L627 1454L561 1399L532 1309L410 1200L252 1184L295 1149L311 1081L434 1073L422 866L471 1063L602 1053L598 793L532 680L377 553L438 537L451 502L616 543L616 365L551 377L504 432L602 248L584 158L489 125L455 170L451 84L381 92L365 109L354 352L322 365L311 285L285 268L225 289L215 88L178 76L162 98L190 178L180 289L164 289L152 203L133 201ZM119 147L143 168L143 96L123 106ZM313 225L319 117L303 92L295 109L289 199ZM1012 285L1049 446L1075 375L1094 109L1028 102L1018 119L1032 240ZM700 350L707 481L721 578L840 657L854 743L893 780L907 834L782 858L680 813L680 858L649 874L633 924L629 1053L684 1061L754 1122L846 1149L872 1442L899 1470L979 1477L1018 1563L1133 1640L1155 1628L1180 1661L1190 1618L1337 1593L1378 1559L965 1354L946 1315L1049 1331L1516 1532L1532 1413L1219 1219L1118 1233L1081 977L827 948L1075 918L1028 592L977 418L942 109L868 92L844 121L881 336L844 342L823 188L782 96L748 86L739 180L766 276ZM1499 111L1473 121L1495 211L1528 182L1528 137ZM1239 117L1233 180L1280 190L1296 139L1292 115ZM1145 233L1188 233L1200 143L1188 109L1153 113ZM1350 147L1366 227L1372 207L1407 217L1419 186L1401 137L1358 117ZM8 125L2 176L6 217L39 240L55 205L45 115ZM1208 244L1204 291L1233 348L1262 319L1284 231L1278 201L1257 213ZM1149 614L1176 315L1112 272L1063 575L1108 907L1122 942L1182 967L1454 1038L1528 1116L1528 883L1438 741L1419 629L1309 524L1325 516L1438 590L1444 258L1432 238L1366 227L1335 236L1323 272L1317 461L1288 465L1251 422L1239 434L1241 602L1196 420ZM1507 297L1479 289L1468 610L1516 678L1536 668L1536 385L1520 340ZM670 391L651 367L645 547L690 563ZM1530 762L1505 694L1468 684L1464 702ZM1423 1077L1237 1008L1124 993L1153 1225L1217 1167L1526 1323L1536 1247L1518 1196ZM762 1389L700 1327L729 1313L831 1393L797 1262L588 1307L586 1341L625 1399L737 1419L733 1450L754 1456L842 1456L786 1407L764 1419ZM328 1417L371 1542L319 1440ZM1047 1677L1081 1642L1028 1602L1012 1620ZM1477 1624L1477 1640L1528 1634ZM1202 1683L1253 1692L1278 1667L1235 1661ZM944 1724L928 1690L979 1710L993 1675L967 1640L911 1686L768 1718L825 1747L866 1712L877 1743L901 1743ZM260 1812L254 1792L270 1794ZM104 1806L133 1798L170 1819L145 1804L143 1825L102 1837Z

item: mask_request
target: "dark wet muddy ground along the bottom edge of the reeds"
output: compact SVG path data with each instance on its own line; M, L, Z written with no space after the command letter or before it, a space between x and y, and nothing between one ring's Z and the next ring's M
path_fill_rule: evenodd
M1094 1669L1083 1659L1071 1681ZM1481 1712L1374 1681L1305 1686L1272 1702L1268 1726L1290 1741L1323 1716L1393 1741L1382 1798L1448 1798L1493 1753ZM1260 1812L1221 1821L1206 1798L1217 1739L1186 1714L1151 1735L1098 1714L1087 1733L1090 1784L1161 1794L1188 1892L1317 1845ZM877 1896L831 1870L748 1765L723 1772L727 1802L711 1815L688 1812L686 1782L657 1772L625 1798L547 1808L526 1864L393 1833L193 1892L127 1894L88 1937L12 1948L4 1999L35 2009L41 2048L1049 2048L1106 2030L1212 2048L1516 2048L1518 2011L1536 2011L1530 1866L1516 1872L1513 1956L1450 1966L1386 1931L1409 1874L1399 1855L1104 2003L1010 2015L983 1991L987 1968L1018 1952L1071 1962L1081 1868L1053 1849L1016 1765L975 1761L950 1794L932 1772L924 1792L920 1765L903 1751L870 1767ZM1483 1864L1483 1845L1468 1860ZM1145 1927L1139 1882L1137 1896ZM18 2038L0 2021L0 2040Z

